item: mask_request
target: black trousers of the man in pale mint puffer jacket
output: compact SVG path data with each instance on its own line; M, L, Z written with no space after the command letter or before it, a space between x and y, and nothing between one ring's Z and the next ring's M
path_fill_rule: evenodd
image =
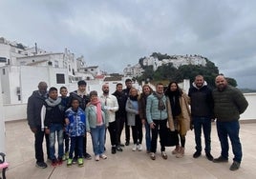
M152 131L152 139L151 139L151 152L156 152L157 150L157 142L158 142L158 135L160 133L160 151L165 151L165 147L164 147L164 135L165 135L165 131L167 129L166 127L166 123L167 123L167 119L164 120L153 120L153 122L155 123L155 128L151 129Z

